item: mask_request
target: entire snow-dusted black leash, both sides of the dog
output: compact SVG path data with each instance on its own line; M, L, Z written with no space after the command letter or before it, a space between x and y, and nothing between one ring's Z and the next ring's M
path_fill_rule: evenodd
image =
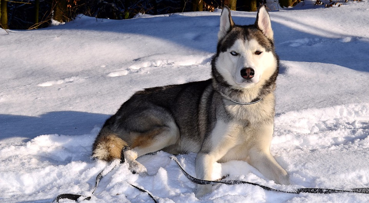
M121 160L120 163L118 163L118 160L113 161L110 165L108 165L106 168L104 168L103 171L101 171L99 173L99 175L97 175L96 177L96 182L95 182L95 186L92 189L91 195L93 195L93 193L95 192L97 186L99 185L100 180L107 175L111 170L113 170L113 168L115 168L117 165L119 164L123 164L124 163L124 155L123 155L123 151L127 150L127 149L123 149L121 152ZM254 186L259 186L264 190L268 190L268 191L272 191L272 192L283 192L283 193L291 193L291 194L299 194L299 193L315 193L315 194L331 194L331 193L342 193L342 192L354 192L354 193L365 193L365 194L369 194L369 188L354 188L354 189L350 189L350 190L337 190L337 189L324 189L324 188L298 188L296 190L291 190L291 191L285 191L285 190L278 190L278 189L274 189L274 188L270 188L268 186L264 186L264 185L260 185L260 184L256 184L253 182L246 182L246 181L238 181L238 180L220 180L220 181L206 181L203 179L198 179L195 178L193 176L191 176L190 174L188 174L180 165L178 159L175 156L170 157L171 159L173 159L179 166L179 168L182 170L183 174L193 183L196 184L200 184L200 185L214 185L214 184L227 184L227 185L237 185L237 184L249 184L249 185L254 185ZM130 184L130 183L128 183ZM151 199L155 202L158 203L156 201L156 199L147 191L144 190L142 188L139 188L138 186L132 185L134 188L140 190L141 192L145 192L148 193L148 195L151 197ZM74 200L76 202L82 201L82 200L90 200L91 196L85 196L85 195L75 195L75 194L61 194L58 195L54 202L59 203L60 199L70 199L70 200Z

